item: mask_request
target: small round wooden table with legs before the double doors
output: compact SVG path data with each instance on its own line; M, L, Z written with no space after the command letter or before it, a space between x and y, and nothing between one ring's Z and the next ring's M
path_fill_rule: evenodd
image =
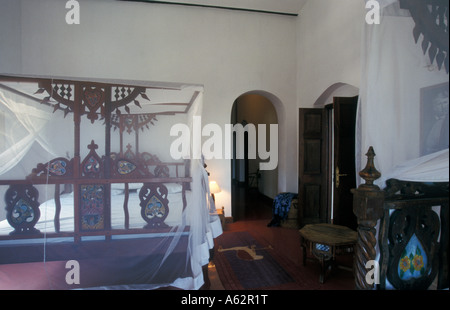
M327 270L335 265L336 254L353 253L358 233L348 227L333 224L309 224L299 230L306 265L307 249L320 262L320 283L324 283Z

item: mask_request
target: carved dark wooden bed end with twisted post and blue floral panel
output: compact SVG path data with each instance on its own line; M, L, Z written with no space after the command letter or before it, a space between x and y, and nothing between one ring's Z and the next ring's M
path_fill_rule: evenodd
M448 289L448 182L390 179L380 190L373 184L381 174L372 147L366 155L367 165L360 172L365 184L352 191L358 219L356 288L429 289L434 283L433 288ZM378 268L372 263L377 253Z

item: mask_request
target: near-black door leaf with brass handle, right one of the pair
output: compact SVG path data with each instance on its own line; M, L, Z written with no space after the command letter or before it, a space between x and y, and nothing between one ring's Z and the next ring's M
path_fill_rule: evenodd
M356 187L355 122L358 97L335 97L333 223L356 229L353 195Z

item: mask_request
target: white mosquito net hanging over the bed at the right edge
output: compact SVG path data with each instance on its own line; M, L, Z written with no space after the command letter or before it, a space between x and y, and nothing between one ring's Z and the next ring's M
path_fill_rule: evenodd
M448 182L448 1L375 2L379 23L369 14L363 32L357 171L373 146L380 187L390 177Z

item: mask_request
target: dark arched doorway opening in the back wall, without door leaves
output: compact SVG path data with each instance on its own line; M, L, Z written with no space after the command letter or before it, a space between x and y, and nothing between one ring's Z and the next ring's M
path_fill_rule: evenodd
M249 92L239 96L233 103L231 111L231 124L253 126L256 137L266 130L266 150L273 147L270 141L270 125L278 126L278 113L276 107L264 93ZM265 126L258 126L265 125ZM256 156L252 156L251 150L258 150L258 139L255 139L248 131L244 132L243 158L238 156L241 142L234 132L233 158L231 160L231 203L234 220L270 218L272 200L278 192L278 166L273 170L260 169L261 162L267 162ZM250 152L249 152L250 150ZM278 146L277 146L278 152ZM277 154L278 156L278 154ZM278 157L277 157L278 158Z

